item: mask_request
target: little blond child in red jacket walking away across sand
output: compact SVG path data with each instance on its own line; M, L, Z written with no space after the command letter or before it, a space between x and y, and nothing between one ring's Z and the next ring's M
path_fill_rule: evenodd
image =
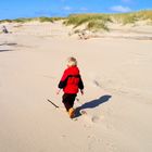
M64 94L62 97L62 102L65 105L66 111L69 114L69 117L73 118L75 115L74 101L80 89L81 94L84 94L84 83L81 80L79 69L77 67L77 61L75 58L68 58L67 68L64 71L63 76L59 83L59 90L63 89Z

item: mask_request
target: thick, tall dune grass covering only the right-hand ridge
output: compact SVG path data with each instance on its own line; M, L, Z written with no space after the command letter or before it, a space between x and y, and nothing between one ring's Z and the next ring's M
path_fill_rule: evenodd
M135 24L138 21L149 21L152 23L152 11L139 11L117 14L72 14L64 22L65 25L73 25L74 28L86 24L89 30L109 30L109 23L122 25Z

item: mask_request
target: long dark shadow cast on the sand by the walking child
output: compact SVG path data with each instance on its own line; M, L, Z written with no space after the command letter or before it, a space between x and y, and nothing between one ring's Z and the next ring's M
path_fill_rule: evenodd
M105 96L100 97L99 99L96 99L96 100L89 101L87 103L84 103L81 106L78 106L76 109L75 117L79 117L81 115L80 114L81 110L93 109L96 106L99 106L100 104L102 104L104 102L107 102L111 98L112 98L112 96L105 94Z

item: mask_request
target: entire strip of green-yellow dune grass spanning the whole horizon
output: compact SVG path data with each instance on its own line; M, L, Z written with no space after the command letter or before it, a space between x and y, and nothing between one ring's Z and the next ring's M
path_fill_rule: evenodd
M2 20L0 23L26 23L26 22L50 22L64 21L63 24L68 26L73 25L73 28L85 25L88 30L106 30L109 31L109 23L114 24L136 24L139 21L147 21L152 25L152 10L130 12L130 13L88 13L88 14L71 14L67 17L34 17L34 18L15 18L15 20Z

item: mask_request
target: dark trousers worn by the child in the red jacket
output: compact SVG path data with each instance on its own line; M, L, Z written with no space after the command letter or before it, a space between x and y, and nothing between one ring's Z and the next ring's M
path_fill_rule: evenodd
M74 106L74 101L75 101L76 96L77 94L68 94L68 93L63 94L62 102L64 103L64 106L67 112L71 107Z

